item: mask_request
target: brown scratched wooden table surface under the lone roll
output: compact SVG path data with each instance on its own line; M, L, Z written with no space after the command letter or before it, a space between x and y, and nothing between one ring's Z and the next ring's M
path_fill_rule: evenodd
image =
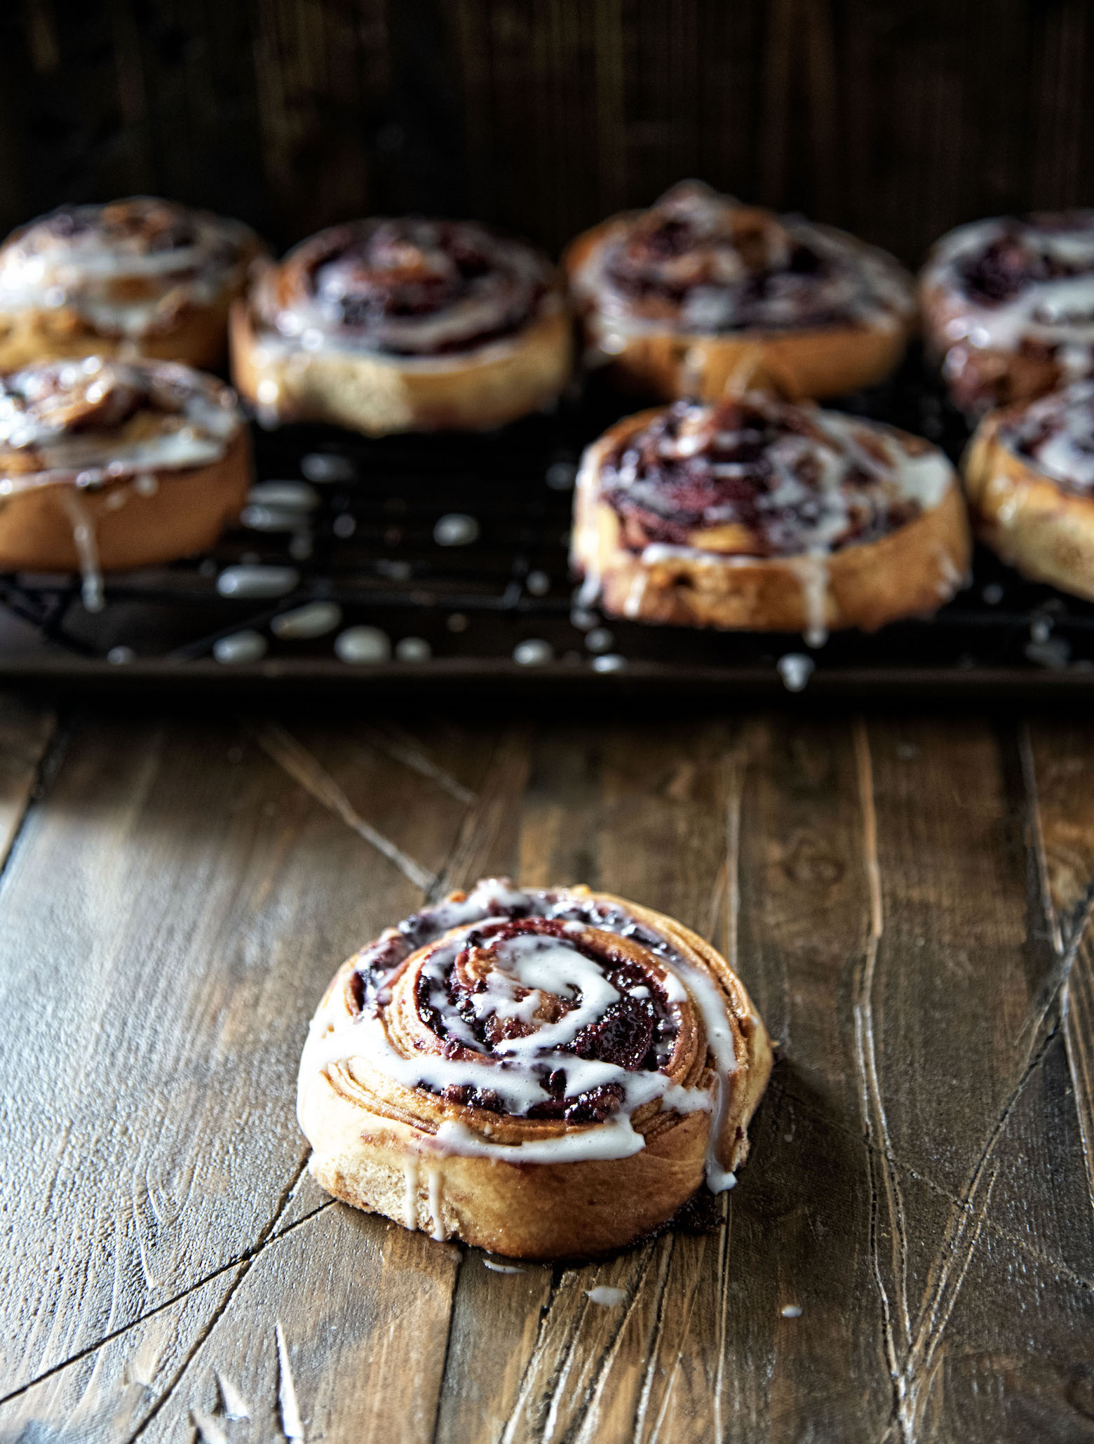
M421 715L0 702L0 1438L1094 1438L1094 728ZM309 1180L335 966L498 872L736 957L717 1233L499 1274Z

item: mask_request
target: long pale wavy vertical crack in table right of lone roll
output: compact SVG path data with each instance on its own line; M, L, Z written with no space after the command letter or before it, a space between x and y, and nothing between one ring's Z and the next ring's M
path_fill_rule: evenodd
M863 963L854 986L854 1066L859 1074L859 1096L862 1102L866 1139L876 1144L867 1152L870 1171L870 1261L875 1282L882 1304L882 1336L889 1375L893 1380L893 1396L898 1419L903 1418L908 1378L901 1367L899 1354L908 1349L911 1320L908 1314L908 1240L905 1232L903 1197L892 1158L889 1123L885 1116L880 1080L878 1076L878 1051L875 1043L873 983L878 967L878 950L885 928L882 898L882 875L878 864L878 814L873 804L873 765L870 744L862 718L854 721L854 760L859 774L859 803L862 807L863 862L870 898L869 933ZM889 1298L880 1262L879 1227L879 1183L885 1194L889 1220L895 1302ZM898 1337L898 1327L901 1336ZM905 1438L911 1435L905 1432Z

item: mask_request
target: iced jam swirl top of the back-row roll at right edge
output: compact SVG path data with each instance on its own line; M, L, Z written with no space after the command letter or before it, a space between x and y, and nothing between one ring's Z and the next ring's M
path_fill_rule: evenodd
M967 352L1094 365L1094 211L961 225L934 247L924 295L935 345L957 375Z

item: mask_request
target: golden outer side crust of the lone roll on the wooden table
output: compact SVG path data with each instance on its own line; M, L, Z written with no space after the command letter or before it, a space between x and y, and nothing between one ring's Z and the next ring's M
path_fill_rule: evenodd
M572 891L587 895L585 888ZM611 894L595 895L701 953L722 983L739 1044L717 1152L725 1167L736 1168L748 1155L746 1129L771 1074L763 1024L736 975L690 928ZM335 975L316 1019L348 1018L345 988L354 966L349 959ZM306 1060L307 1053L302 1073ZM623 1248L667 1223L703 1184L709 1112L657 1113L638 1125L645 1147L625 1158L511 1164L440 1154L421 1126L371 1112L367 1099L345 1066L302 1079L299 1118L313 1149L313 1177L358 1209L509 1258L590 1258Z

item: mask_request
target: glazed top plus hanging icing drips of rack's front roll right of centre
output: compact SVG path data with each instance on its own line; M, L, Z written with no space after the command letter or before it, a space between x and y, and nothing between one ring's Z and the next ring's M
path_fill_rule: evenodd
M756 453L759 426L766 433ZM749 459L723 459L735 455ZM710 501L688 501L696 510L681 514L674 511L673 488L683 485L686 495L688 490L697 495L699 459L704 462L699 475L713 484ZM727 487L725 503L717 482ZM740 498L742 485L751 495ZM776 559L798 576L807 641L817 647L827 637L828 557L931 511L954 485L954 468L941 451L882 423L791 406L762 393L716 406L678 401L623 440L612 442L609 433L586 449L572 543L576 562L586 569L577 602L589 606L600 593L599 503L618 514L616 544L631 554L638 546L628 533L632 516L639 518L639 534L657 534L657 518L667 530L687 529L687 542L648 540L636 550L642 566L631 578L623 615L641 615L652 567L753 566Z

